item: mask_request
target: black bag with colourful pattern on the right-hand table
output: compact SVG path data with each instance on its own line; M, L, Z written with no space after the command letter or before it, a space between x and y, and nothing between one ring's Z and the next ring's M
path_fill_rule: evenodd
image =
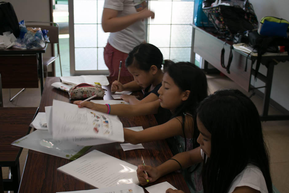
M258 27L258 20L248 0L216 0L204 13L224 38L232 39L234 34Z

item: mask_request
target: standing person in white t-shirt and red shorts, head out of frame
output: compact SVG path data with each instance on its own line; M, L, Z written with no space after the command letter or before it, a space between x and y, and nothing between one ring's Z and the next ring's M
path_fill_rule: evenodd
M120 61L124 63L128 53L145 41L144 19L154 16L148 8L137 12L135 0L105 0L101 25L104 32L110 32L103 53L109 76L118 76ZM121 68L121 76L131 74Z

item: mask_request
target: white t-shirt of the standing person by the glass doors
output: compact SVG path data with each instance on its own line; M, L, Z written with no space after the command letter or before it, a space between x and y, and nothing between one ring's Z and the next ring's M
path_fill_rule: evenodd
M133 0L105 0L104 8L117 10L117 17L137 13ZM145 41L144 21L137 21L127 28L109 34L108 42L111 46L125 53Z

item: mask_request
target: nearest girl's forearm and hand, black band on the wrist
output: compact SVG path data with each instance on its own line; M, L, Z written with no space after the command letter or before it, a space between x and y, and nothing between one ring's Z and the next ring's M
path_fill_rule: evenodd
M179 169L185 169L192 166L193 164L200 163L202 161L203 158L201 156L201 149L200 147L197 147L190 151L179 153L173 156L172 159L168 159L168 161L162 163L157 167L139 165L137 167L137 178L141 185L146 185L147 179L149 180L149 182L154 182L161 176L164 176ZM144 171L146 171L148 175L146 175Z

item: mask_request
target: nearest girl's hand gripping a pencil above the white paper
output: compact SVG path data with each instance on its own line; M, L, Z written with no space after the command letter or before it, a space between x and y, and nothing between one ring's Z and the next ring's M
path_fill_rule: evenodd
M146 171L148 175L146 175L144 171ZM141 185L144 186L148 183L147 179L149 182L154 182L159 178L158 171L155 167L139 165L137 167L137 178Z

